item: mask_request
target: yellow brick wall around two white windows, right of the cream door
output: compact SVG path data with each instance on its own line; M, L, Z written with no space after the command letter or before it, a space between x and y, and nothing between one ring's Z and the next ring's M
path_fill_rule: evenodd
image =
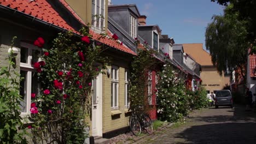
M110 66L107 67L111 69ZM119 67L118 106L121 115L111 115L111 76L103 75L103 103L102 103L102 133L123 128L128 125L128 117L125 116L125 68Z

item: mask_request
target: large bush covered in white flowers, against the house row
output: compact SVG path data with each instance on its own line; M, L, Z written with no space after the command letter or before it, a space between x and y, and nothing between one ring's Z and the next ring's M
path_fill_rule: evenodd
M164 65L159 75L161 79L156 86L158 117L161 121L179 121L189 112L189 95L185 94L184 81L169 64Z

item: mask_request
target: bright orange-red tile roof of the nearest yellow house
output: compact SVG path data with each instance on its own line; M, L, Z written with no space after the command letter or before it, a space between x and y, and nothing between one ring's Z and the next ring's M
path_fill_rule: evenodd
M80 17L74 12L74 10L69 7L69 5L63 1L59 0L71 13L72 15L83 25L85 23L80 19ZM11 9L15 9L20 11L21 13L31 15L33 17L36 17L36 19L39 19L44 22L51 23L52 25L55 25L57 27L61 27L66 29L67 31L72 31L74 33L80 34L79 32L75 31L75 29L68 25L68 23L62 19L62 17L57 13L53 7L46 1L46 0L36 0L36 1L30 1L30 0L2 0L0 2L0 5L4 5L5 7L9 7ZM93 33L90 31L90 34L92 35L93 39L96 39L100 37L100 34ZM108 32L109 37L112 37L112 35ZM98 39L96 39L98 40ZM131 49L124 45L117 44L114 40L104 38L101 40L98 40L101 43L107 44L109 46L114 47L115 49L118 49L120 51L124 51L127 53L131 53L132 55L136 55L135 52L133 52Z

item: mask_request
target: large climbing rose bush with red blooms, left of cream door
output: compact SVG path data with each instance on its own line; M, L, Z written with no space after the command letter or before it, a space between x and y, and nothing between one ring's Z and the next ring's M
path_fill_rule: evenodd
M88 29L81 32L90 38ZM92 80L106 68L107 57L101 56L105 49L103 44L86 43L71 32L60 33L50 49L43 49L49 55L42 57L40 94L33 99L38 108L38 113L31 114L35 143L83 143L88 137L85 117L91 114Z

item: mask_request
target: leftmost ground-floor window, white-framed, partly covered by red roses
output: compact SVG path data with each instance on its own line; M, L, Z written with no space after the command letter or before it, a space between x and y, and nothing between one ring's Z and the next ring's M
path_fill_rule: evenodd
M21 116L30 114L31 93L38 94L38 80L36 69L33 68L33 63L40 59L40 49L37 47L21 43L20 48L20 75L24 79L20 81L20 101Z

